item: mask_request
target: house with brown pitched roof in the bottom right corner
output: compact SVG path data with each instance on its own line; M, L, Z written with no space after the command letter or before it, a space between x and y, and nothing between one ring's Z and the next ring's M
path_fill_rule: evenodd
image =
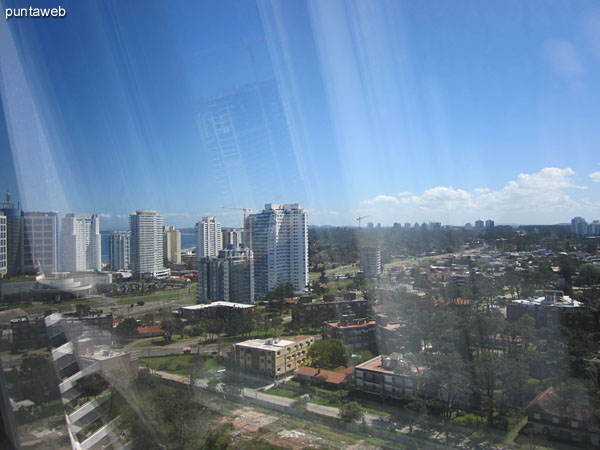
M527 405L525 412L536 433L563 441L589 442L600 447L598 411L594 411L589 402L569 404L553 387L549 387Z

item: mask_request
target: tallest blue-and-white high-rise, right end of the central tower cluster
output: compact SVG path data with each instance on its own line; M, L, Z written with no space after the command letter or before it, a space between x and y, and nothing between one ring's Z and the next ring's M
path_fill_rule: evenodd
M299 204L268 203L248 216L245 236L254 252L258 298L285 283L301 291L308 284L308 214Z

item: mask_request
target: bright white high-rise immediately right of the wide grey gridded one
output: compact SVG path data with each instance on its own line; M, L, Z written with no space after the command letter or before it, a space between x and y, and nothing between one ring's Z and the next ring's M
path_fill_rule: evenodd
M60 230L60 270L102 270L100 219L96 214L67 214Z

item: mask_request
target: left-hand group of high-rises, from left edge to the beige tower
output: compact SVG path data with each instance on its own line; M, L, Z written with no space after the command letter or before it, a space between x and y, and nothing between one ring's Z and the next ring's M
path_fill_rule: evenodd
M181 234L163 227L156 211L136 211L129 231L109 239L110 268L130 269L138 278L169 274L164 262L181 262ZM96 214L25 212L17 203L0 204L0 276L58 271L102 270L102 237Z

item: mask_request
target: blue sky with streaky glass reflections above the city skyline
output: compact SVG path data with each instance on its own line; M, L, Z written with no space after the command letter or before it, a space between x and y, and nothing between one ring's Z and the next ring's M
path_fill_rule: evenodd
M26 210L105 229L136 209L240 226L225 208L265 203L315 225L600 219L597 2L61 5L0 22L0 190ZM202 105L263 82L235 155L211 149Z

